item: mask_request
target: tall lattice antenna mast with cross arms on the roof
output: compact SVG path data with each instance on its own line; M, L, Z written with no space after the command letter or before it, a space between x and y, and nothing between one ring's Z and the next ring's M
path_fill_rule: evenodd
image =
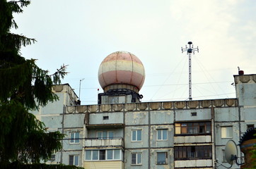
M192 42L187 42L187 44L189 44L190 46L186 47L185 48L182 48L181 47L181 51L183 53L183 51L187 51L187 55L189 57L189 99L192 100L192 84L191 84L191 54L193 53L194 54L194 51L197 51L199 52L199 49L198 49L198 46L197 48L193 48L193 44Z

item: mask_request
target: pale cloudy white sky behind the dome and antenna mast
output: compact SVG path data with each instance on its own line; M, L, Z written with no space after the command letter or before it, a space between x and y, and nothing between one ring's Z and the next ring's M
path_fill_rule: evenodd
M142 101L188 98L187 42L192 56L192 98L235 98L238 66L256 73L256 1L248 0L34 0L15 15L14 32L37 42L21 50L50 73L63 63L81 104L97 104L101 61L114 51L135 54L146 71Z

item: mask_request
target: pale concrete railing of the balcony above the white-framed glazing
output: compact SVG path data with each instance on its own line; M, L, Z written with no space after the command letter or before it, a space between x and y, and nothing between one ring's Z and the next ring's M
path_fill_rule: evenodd
M122 137L113 137L112 139L86 138L85 148L103 148L103 147L124 147Z

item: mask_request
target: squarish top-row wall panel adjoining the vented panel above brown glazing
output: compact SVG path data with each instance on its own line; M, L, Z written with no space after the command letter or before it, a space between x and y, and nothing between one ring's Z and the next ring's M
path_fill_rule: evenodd
M151 111L151 124L170 124L174 120L173 111Z

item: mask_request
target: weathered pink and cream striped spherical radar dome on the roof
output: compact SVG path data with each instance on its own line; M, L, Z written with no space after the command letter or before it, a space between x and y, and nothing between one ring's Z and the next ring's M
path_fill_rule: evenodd
M112 84L127 84L136 87L136 90L139 91L145 80L144 66L134 54L127 51L116 51L107 56L100 64L98 80L104 90L105 87Z

